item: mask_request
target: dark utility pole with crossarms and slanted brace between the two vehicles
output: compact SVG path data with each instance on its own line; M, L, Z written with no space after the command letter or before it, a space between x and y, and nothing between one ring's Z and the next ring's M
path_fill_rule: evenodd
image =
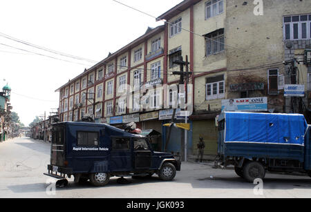
M179 80L179 84L183 85L185 84L185 90L187 90L187 84L188 84L188 80L189 80L189 75L191 75L192 73L189 73L189 62L188 62L188 56L186 56L186 61L183 61L182 56L180 56L180 60L178 61L173 61L173 64L179 64L180 65L180 71L174 71L173 75L180 75L180 80ZM184 72L184 66L186 66L186 73ZM186 81L185 81L185 77L186 77ZM178 94L179 94L180 90L179 90L179 86L178 86ZM186 91L187 93L187 91ZM186 103L186 98L187 95L185 95L185 103ZM187 104L185 104L185 110L186 110L186 106ZM173 108L173 115L171 117L171 124L169 126L169 132L167 135L167 141L165 144L165 151L167 151L167 146L169 144L169 139L171 137L171 128L173 126L173 120L175 119L175 115L176 115L176 108ZM187 123L187 116L185 114L185 122ZM185 161L187 161L187 131L185 130Z

